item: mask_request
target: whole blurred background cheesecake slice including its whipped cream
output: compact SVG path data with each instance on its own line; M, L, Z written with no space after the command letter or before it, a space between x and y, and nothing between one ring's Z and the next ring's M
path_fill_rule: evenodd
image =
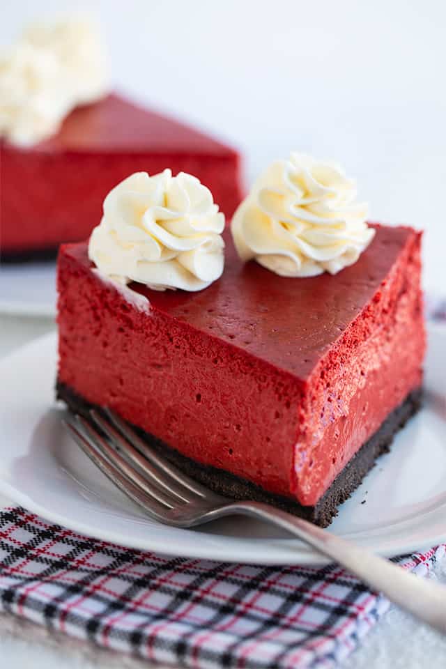
M197 175L230 216L239 156L203 132L109 91L94 22L27 26L0 56L0 251L3 260L54 254L100 220L105 193L131 174Z

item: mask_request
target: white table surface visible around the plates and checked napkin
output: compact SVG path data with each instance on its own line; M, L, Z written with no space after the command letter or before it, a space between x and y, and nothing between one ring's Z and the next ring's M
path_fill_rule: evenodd
M14 348L54 329L48 319L0 316L0 357ZM1 505L9 500L0 498ZM446 520L445 520L446 522ZM431 578L446 583L446 560ZM48 633L36 625L0 615L1 664L9 669L142 669L149 665L112 654L61 634ZM444 669L446 637L393 607L365 638L342 669Z

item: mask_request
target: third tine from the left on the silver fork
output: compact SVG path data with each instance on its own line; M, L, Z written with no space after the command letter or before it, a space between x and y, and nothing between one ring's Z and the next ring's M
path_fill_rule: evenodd
M118 430L114 428L111 421L95 409L90 411L95 424L103 430L112 441L113 447L118 447L124 457L128 457L149 480L155 482L157 486L167 491L167 493L176 495L176 497L183 502L192 502L197 499L197 493L190 491L185 486L178 484L175 479L166 475L155 468L136 448L132 443L125 438Z

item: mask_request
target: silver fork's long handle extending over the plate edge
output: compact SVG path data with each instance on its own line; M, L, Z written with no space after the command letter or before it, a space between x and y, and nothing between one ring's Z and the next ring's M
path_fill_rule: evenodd
M351 571L372 590L382 592L419 620L446 633L446 588L438 583L417 578L383 557L261 502L234 502L226 508L231 514L254 516L287 530Z

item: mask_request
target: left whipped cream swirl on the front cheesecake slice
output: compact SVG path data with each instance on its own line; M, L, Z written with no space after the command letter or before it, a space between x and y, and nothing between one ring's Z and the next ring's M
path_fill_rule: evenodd
M200 291L222 275L223 229L224 214L196 177L136 172L105 198L89 257L121 283Z

